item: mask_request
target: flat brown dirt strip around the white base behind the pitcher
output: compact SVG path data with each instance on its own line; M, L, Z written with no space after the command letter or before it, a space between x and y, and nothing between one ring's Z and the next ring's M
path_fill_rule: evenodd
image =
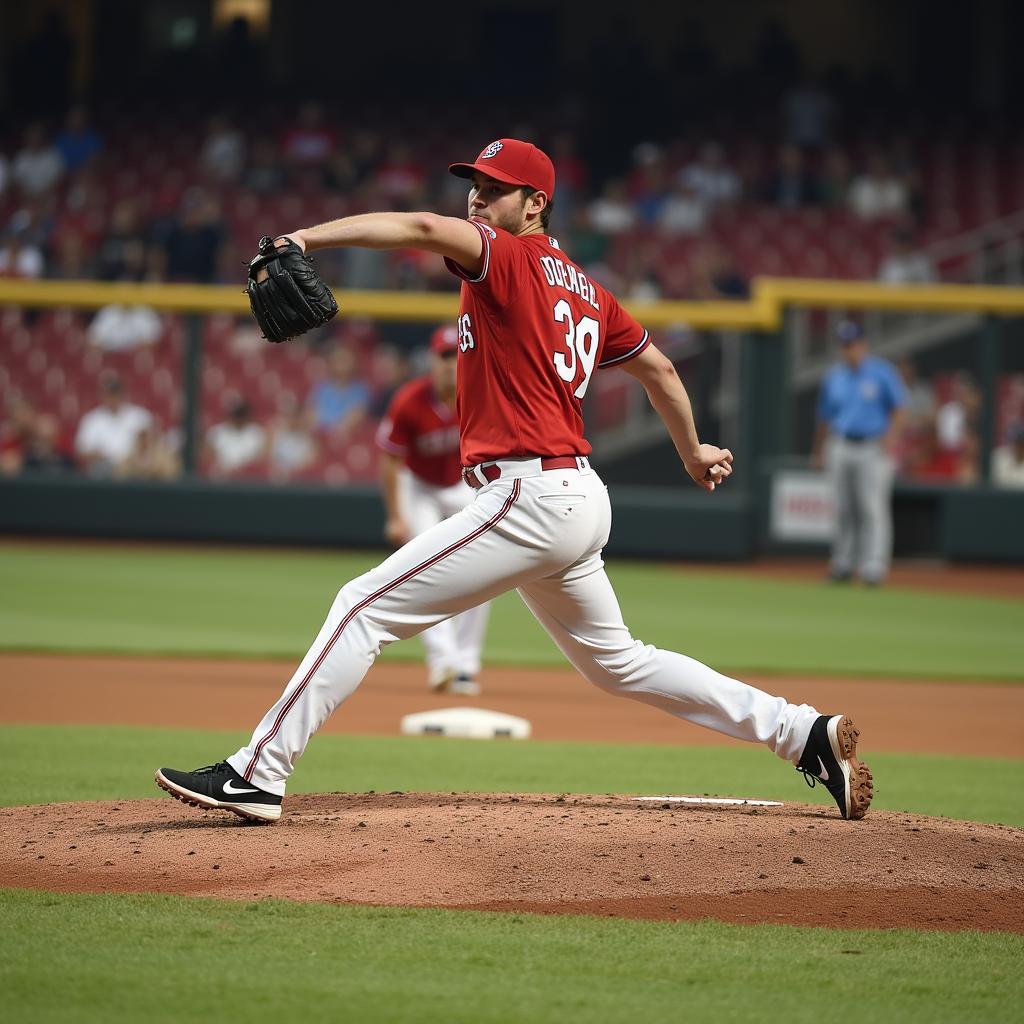
M292 662L2 654L0 722L249 729L294 669ZM752 673L743 679L798 703L852 715L866 754L1024 757L1024 686ZM536 739L746 745L610 696L569 669L488 666L482 682L472 703L527 719ZM393 736L403 715L459 702L430 693L421 665L380 663L324 731Z

